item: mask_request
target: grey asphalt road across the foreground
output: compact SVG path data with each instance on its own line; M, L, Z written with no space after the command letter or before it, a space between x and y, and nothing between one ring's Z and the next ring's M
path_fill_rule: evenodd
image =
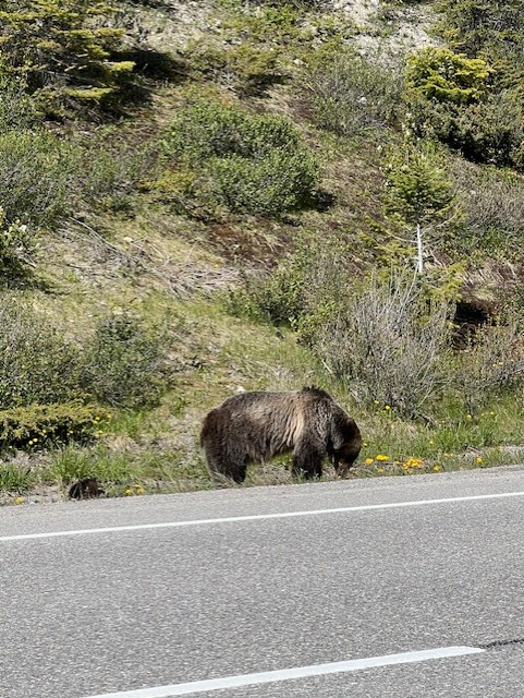
M4 508L0 627L1 698L458 646L485 651L193 695L516 698L524 468Z

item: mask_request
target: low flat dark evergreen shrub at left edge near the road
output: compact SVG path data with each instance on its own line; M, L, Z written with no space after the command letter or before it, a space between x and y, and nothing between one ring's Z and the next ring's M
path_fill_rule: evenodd
M70 442L86 443L101 431L109 413L98 405L32 405L0 411L0 450L34 450Z

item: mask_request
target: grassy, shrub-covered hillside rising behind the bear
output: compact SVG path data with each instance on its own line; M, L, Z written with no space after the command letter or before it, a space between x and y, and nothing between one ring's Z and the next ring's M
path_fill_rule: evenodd
M210 488L204 414L304 384L351 477L519 461L524 21L474 5L3 12L0 501Z

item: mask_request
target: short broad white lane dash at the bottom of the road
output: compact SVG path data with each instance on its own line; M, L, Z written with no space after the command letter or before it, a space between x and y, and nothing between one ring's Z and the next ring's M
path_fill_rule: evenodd
M88 698L172 698L173 696L188 696L220 688L236 688L256 684L269 684L290 678L306 678L308 676L324 676L326 674L339 674L342 672L356 672L362 669L375 666L389 666L391 664L407 664L411 662L424 662L430 659L447 659L450 657L463 657L464 654L478 654L485 652L478 647L439 647L432 650L418 652L402 652L401 654L386 654L383 657L367 657L345 662L332 662L330 664L313 664L313 666L296 666L275 672L260 674L243 674L240 676L224 676L223 678L209 678L207 681L194 681L187 684L172 684L171 686L155 686L151 688L138 688L136 690L123 690L115 694L99 694Z

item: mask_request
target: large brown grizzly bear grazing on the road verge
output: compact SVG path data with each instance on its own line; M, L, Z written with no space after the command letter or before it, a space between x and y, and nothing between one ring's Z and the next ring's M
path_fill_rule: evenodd
M361 450L358 426L325 390L241 393L211 410L200 445L215 481L243 482L247 464L263 462L293 450L293 476L322 474L328 456L345 476Z

